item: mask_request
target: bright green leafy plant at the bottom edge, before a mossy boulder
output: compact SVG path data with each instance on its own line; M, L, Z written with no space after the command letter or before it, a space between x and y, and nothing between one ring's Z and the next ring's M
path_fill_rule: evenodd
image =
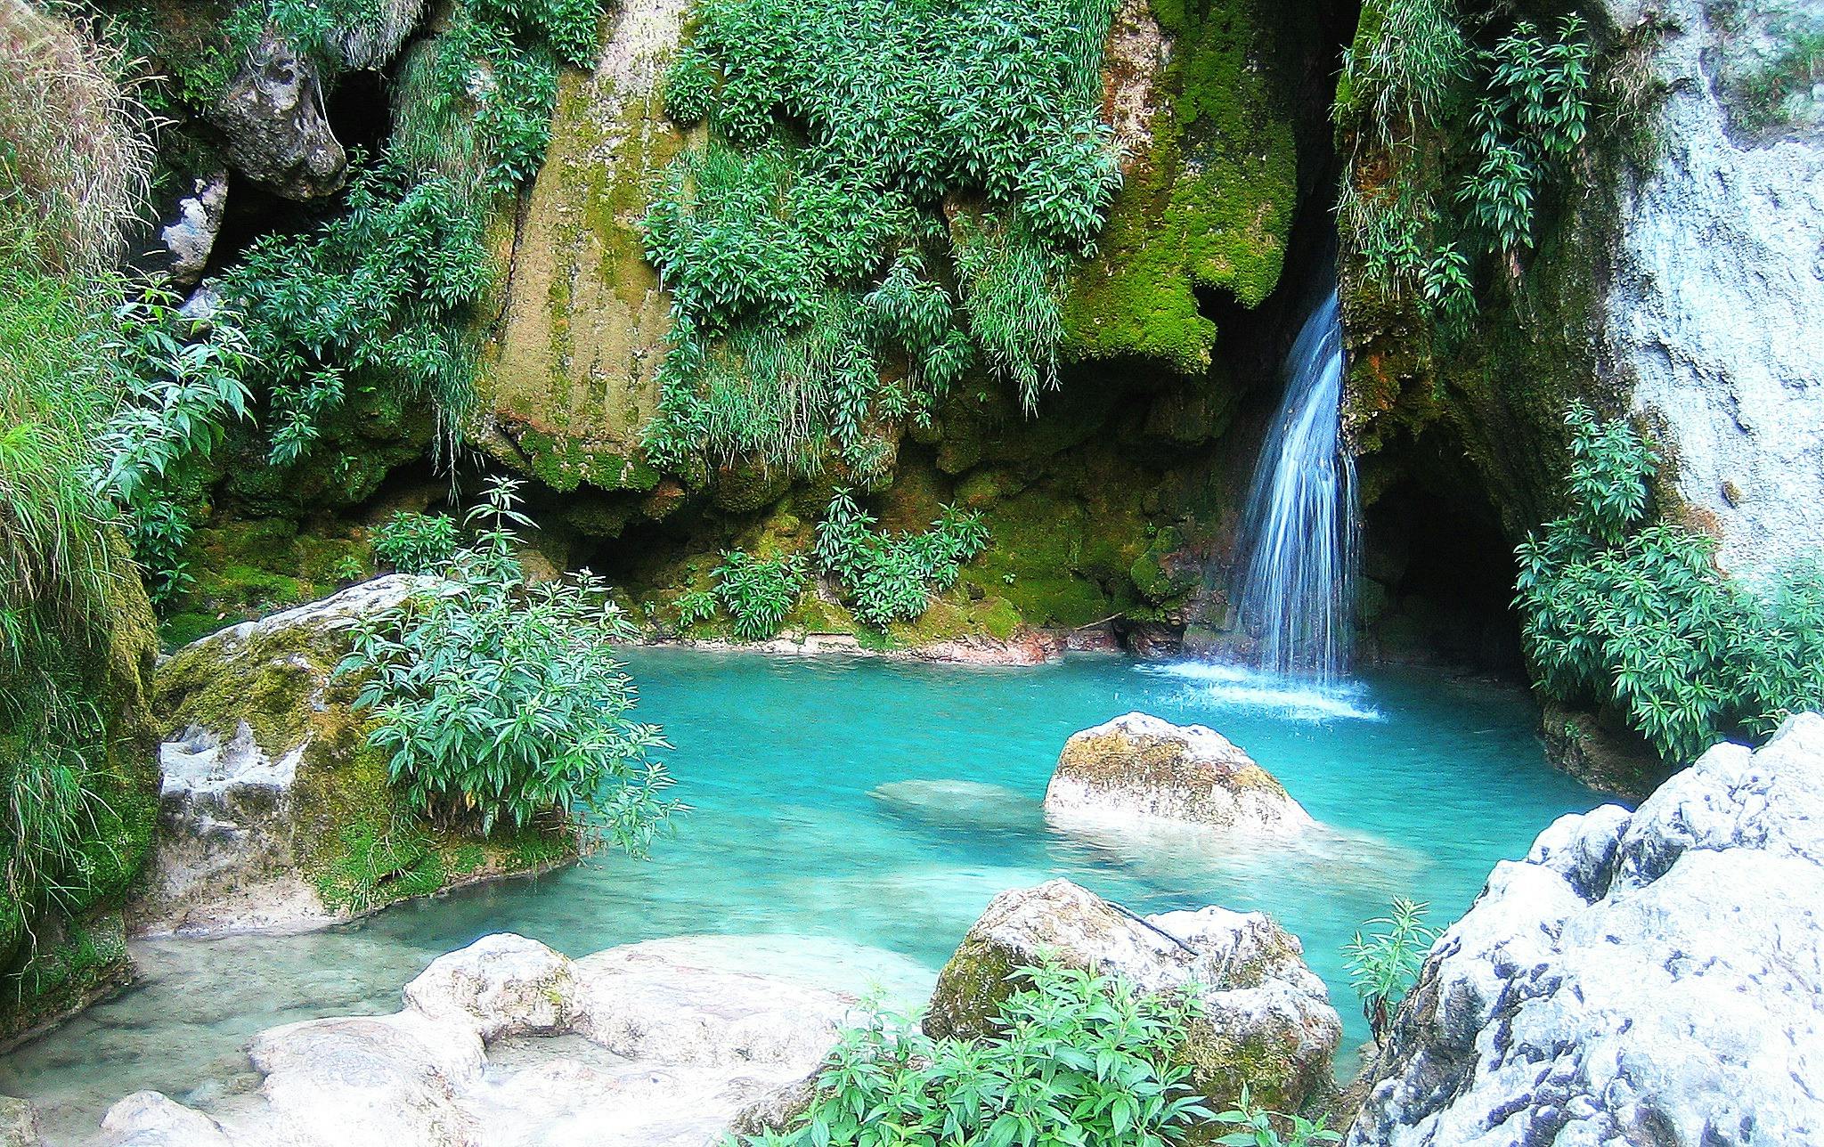
M846 1028L790 1131L748 1147L1162 1147L1209 1120L1187 1094L1178 1050L1193 994L1142 996L1074 968L1018 968L1023 981L992 1041L930 1039L870 1014Z

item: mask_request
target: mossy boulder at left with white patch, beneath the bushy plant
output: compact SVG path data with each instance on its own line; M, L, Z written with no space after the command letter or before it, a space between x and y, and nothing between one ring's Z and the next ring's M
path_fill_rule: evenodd
M184 646L157 673L164 795L137 932L308 926L576 855L407 810L337 677L354 627L436 582L387 576Z

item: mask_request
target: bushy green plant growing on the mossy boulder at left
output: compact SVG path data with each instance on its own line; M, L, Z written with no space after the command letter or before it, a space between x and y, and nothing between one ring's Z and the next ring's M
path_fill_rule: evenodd
M518 483L494 480L451 582L370 618L341 673L363 680L368 744L409 808L482 832L569 824L644 852L679 808L660 793L658 728L629 718L633 682L611 651L631 636L602 584L527 585L514 556Z

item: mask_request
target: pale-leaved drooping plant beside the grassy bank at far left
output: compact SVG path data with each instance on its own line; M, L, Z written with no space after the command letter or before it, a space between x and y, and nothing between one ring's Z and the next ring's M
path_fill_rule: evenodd
M102 438L104 481L146 589L164 604L192 580L182 554L202 469L228 427L250 418L250 350L235 312L190 319L159 286L128 295L102 350L124 385Z

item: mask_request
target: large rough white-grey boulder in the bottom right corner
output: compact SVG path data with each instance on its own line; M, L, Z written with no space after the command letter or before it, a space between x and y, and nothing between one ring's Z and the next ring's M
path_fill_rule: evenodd
M1353 1147L1824 1142L1824 718L1563 817L1432 948Z

